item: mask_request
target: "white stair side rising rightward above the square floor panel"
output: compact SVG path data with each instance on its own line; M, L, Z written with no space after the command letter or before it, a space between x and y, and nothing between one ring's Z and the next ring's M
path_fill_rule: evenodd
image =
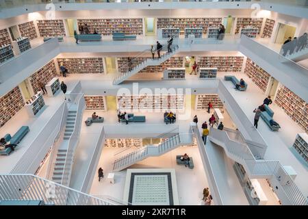
M147 145L144 146L144 148L142 149L138 149L136 151L128 153L127 155L124 155L123 157L120 157L119 159L116 159L114 161L114 171L123 170L148 157L158 157L160 155L163 155L164 153L176 149L178 146L189 144L192 144L191 134L177 134L175 136L172 136L171 138L168 138L168 140L158 144L158 146Z

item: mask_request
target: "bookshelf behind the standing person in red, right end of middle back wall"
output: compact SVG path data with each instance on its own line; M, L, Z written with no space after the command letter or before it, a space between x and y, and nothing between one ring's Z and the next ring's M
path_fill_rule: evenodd
M213 108L222 109L224 105L218 94L198 94L196 96L195 110L207 110L207 104L211 102Z

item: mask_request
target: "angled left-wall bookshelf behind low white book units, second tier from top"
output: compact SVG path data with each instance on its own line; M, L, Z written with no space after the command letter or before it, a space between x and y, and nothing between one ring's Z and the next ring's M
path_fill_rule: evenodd
M29 77L29 81L31 83L31 87L36 94L40 91L40 86L38 86L38 82L42 81L42 83L47 84L51 79L57 76L57 70L55 70L55 63L51 60L49 63L44 65L40 70L36 71L33 75Z

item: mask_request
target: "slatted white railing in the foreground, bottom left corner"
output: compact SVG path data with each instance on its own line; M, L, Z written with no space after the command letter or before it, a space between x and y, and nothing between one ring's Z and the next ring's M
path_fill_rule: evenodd
M35 175L0 175L0 182L0 201L44 201L44 205L123 205Z

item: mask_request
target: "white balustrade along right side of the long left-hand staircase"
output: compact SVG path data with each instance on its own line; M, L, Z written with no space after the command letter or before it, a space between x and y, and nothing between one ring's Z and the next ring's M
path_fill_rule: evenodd
M73 97L73 96L76 97ZM75 153L75 149L77 147L77 144L79 142L79 133L81 129L81 123L82 123L82 114L86 108L86 101L84 100L84 94L70 94L72 99L74 99L73 105L70 106L70 110L76 110L76 118L75 118L75 126L72 135L70 136L70 139L68 140L68 147L66 151L65 156L65 162L64 162L64 168L63 168L63 175L61 184L68 186L70 183L70 174L73 167L73 156Z

